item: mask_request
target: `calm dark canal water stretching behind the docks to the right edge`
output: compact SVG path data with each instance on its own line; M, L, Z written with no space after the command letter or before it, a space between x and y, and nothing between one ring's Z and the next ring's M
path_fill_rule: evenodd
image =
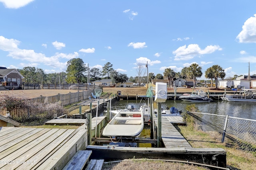
M138 108L140 105L140 100L120 100L112 104L113 106L128 106L133 105ZM166 107L176 107L182 112L186 112L186 106L189 104L195 104L196 107L202 113L211 113L218 115L229 115L232 117L239 117L244 119L256 120L256 103L255 102L226 102L226 101L214 101L214 102L185 102L182 100L166 100L162 103L162 108ZM154 102L154 108L157 108Z

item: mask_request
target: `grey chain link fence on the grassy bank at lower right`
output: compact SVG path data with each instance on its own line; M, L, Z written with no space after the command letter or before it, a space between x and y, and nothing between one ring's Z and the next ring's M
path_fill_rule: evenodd
M236 149L256 152L256 120L242 119L225 115L187 112L194 118L197 130L217 131L234 142Z

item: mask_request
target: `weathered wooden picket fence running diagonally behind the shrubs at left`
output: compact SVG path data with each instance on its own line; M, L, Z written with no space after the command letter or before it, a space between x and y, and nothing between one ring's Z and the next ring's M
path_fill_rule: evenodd
M102 88L100 86L97 87ZM46 110L46 106L49 107L48 105L51 103L60 102L61 106L66 106L81 100L89 99L92 92L94 93L94 90L78 91L76 93L70 92L68 94L57 94L55 96L40 96L37 98L28 99L23 101L26 107L16 107L10 111L10 115L12 115L14 118L26 117L29 119L30 117L42 114ZM54 108L52 109L54 111Z

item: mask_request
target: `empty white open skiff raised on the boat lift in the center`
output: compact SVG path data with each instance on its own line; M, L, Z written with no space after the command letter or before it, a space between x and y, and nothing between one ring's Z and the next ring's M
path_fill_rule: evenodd
M138 137L144 128L142 111L122 111L110 120L102 135L107 137Z

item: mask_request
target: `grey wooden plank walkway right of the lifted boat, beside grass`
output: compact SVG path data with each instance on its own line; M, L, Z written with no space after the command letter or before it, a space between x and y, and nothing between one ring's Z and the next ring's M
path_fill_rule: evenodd
M178 116L162 116L162 141L166 148L192 148L186 139L172 125L173 119L180 119ZM182 119L183 122L183 119ZM157 122L156 122L157 126Z

